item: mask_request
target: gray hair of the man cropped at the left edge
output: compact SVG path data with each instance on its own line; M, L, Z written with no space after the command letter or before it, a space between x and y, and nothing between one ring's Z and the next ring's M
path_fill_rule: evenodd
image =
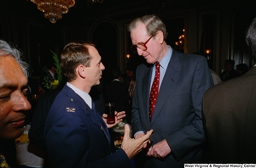
M12 56L16 59L18 64L20 64L20 67L23 70L25 76L27 77L28 64L26 64L26 62L21 60L21 52L18 49L11 46L8 42L0 40L0 57L7 56L7 55Z

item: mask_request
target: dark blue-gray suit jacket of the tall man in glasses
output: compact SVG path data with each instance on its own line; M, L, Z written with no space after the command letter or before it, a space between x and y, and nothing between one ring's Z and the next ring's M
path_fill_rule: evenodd
M171 154L165 159L148 160L148 167L183 167L183 163L201 160L201 145L205 142L201 120L203 93L212 86L207 59L193 54L172 51L166 74L160 86L151 123L148 99L152 68L137 67L137 85L133 97L131 126L133 132L147 132L152 145L166 139ZM145 166L145 167L146 167Z

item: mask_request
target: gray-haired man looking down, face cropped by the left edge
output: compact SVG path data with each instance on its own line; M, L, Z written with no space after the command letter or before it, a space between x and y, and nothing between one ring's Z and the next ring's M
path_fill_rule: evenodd
M0 40L0 165L5 167L15 164L15 160L5 158L2 142L15 141L22 135L26 117L24 113L31 109L26 98L26 76L26 63L21 61L20 51Z

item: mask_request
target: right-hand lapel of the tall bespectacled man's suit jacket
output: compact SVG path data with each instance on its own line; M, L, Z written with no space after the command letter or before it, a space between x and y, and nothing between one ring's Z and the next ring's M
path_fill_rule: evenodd
M162 109L163 105L166 103L167 97L173 92L173 87L177 83L177 80L180 77L180 60L178 58L178 54L176 51L172 51L172 58L168 64L166 74L160 86L160 92L158 94L158 98L154 108L154 115L151 119L151 124L154 123L154 120L160 114L160 110Z

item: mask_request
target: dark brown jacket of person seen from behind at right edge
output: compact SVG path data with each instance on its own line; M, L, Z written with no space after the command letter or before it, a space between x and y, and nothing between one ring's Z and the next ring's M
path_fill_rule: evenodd
M203 120L214 163L256 163L256 68L207 90Z

